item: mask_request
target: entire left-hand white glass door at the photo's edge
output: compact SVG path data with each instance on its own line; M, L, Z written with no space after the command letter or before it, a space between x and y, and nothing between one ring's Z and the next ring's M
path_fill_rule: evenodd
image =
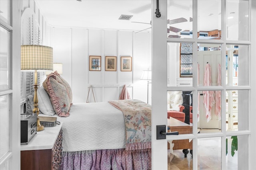
M0 169L20 169L20 4L0 1Z

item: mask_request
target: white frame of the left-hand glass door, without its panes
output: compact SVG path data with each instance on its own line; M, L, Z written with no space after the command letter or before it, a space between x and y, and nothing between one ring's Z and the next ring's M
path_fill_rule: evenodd
M4 169L20 169L20 0L9 0L10 24L1 20L1 26L10 32L10 89L0 95L9 95L9 151L0 160ZM2 125L1 125L2 126Z

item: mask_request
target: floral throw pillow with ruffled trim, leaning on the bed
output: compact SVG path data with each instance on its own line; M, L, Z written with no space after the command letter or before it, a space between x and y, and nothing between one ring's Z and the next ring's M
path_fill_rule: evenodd
M48 75L43 82L44 89L50 96L52 107L55 113L61 117L69 116L72 105L72 92L69 84L63 81L58 72Z

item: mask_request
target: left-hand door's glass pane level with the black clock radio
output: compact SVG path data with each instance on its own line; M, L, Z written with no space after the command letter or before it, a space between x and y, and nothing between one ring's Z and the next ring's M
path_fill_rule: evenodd
M10 97L0 96L0 158L9 152Z

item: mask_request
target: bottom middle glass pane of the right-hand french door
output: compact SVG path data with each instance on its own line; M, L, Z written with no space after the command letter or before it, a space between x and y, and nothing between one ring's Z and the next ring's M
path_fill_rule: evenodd
M221 137L198 139L198 169L221 170Z

